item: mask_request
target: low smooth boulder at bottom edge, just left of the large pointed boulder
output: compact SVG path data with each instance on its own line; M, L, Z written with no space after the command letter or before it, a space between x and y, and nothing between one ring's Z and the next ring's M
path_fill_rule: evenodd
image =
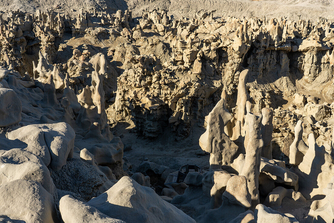
M66 195L60 199L59 210L65 223L125 223L122 220L110 218L98 209Z

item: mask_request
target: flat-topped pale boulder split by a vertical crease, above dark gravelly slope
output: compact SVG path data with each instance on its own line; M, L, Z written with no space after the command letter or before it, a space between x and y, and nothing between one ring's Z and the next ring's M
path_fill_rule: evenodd
M8 139L28 144L26 150L40 157L46 166L59 170L73 156L75 132L66 123L38 124L8 133Z

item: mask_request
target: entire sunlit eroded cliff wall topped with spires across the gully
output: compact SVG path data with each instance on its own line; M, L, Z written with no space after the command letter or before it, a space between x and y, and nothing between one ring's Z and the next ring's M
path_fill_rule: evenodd
M334 32L323 18L216 18L209 12L175 19L153 10L133 19L128 10L109 14L83 9L74 15L8 11L1 19L3 66L41 83L52 74L58 94L66 75L76 94L86 94L86 86L96 82L92 70L100 69L92 67L91 59L102 53L106 101L99 106L106 109L111 126L126 122L145 137L174 131L184 139L194 126L205 126L204 118L222 92L236 120L239 74L248 69L245 84L252 111L276 109L276 158L289 155L291 120L309 120L304 123L311 126L305 128L328 141ZM315 125L318 121L328 123L319 124L325 129Z

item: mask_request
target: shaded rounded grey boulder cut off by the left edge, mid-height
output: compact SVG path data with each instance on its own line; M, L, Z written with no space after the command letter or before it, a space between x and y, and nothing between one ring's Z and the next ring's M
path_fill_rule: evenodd
M15 91L0 88L0 127L21 121L22 103Z

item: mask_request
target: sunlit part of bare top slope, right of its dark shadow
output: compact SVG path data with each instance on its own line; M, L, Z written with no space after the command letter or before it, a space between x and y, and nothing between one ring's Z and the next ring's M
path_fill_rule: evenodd
M145 2L146 4L143 4ZM151 2L151 3L149 3ZM327 0L157 0L157 1L127 1L129 8L135 14L142 9L162 8L176 17L194 17L199 10L213 11L214 16L257 16L257 17L287 17L288 19L311 19L316 21L319 16L334 19L333 1Z

